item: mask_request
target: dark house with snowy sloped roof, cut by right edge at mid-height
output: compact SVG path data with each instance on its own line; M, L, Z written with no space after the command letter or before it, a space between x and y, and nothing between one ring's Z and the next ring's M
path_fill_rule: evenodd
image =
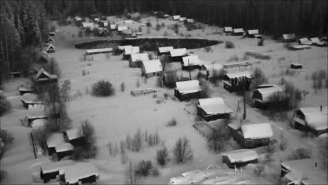
M292 121L295 128L305 132L312 132L315 136L328 132L327 106L298 108L294 110Z

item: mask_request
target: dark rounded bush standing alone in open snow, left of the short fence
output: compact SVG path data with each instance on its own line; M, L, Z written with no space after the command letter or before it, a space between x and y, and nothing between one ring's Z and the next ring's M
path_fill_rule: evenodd
M115 93L111 82L100 80L92 85L92 95L96 97L108 97Z

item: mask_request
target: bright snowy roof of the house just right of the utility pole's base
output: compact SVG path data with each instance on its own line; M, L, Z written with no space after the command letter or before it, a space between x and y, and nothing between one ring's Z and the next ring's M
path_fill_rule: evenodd
M244 138L271 138L272 128L269 123L251 123L241 125Z

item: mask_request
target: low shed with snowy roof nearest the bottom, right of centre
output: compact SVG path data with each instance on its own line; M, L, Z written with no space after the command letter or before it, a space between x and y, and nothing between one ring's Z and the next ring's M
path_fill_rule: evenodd
M223 163L226 163L230 169L258 162L258 153L253 149L238 149L222 153L221 156Z

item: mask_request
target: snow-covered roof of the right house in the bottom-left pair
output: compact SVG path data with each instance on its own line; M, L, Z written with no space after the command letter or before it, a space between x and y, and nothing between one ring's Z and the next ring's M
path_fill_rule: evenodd
M90 177L92 175L98 176L98 170L93 164L88 162L79 162L64 169L65 180L68 184L75 184L79 180Z

